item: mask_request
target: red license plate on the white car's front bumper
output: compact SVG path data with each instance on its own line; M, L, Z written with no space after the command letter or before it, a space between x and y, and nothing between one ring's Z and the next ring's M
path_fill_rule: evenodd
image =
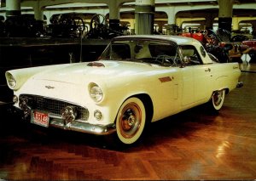
M43 127L49 127L49 113L32 110L31 122Z

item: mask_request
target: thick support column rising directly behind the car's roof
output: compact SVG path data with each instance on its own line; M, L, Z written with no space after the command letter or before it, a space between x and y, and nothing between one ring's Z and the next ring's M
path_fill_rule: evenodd
M135 32L137 35L152 35L154 32L154 0L136 0Z

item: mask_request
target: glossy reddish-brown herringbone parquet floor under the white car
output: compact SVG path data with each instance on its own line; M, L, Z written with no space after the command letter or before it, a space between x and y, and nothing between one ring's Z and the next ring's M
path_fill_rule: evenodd
M253 180L256 65L241 70L244 86L226 96L218 115L198 106L170 116L152 123L143 140L129 148L1 117L0 180Z

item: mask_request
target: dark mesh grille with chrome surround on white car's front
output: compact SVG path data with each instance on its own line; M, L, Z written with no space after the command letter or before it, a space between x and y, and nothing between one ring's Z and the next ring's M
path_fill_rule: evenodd
M78 117L77 120L80 121L87 121L89 118L89 111L80 106L80 105L74 105L71 103L67 103L65 101L61 101L58 99L51 99L46 98L38 95L31 95L31 94L20 94L19 99L27 99L27 105L32 110L43 110L49 112L49 116L59 116L61 117L61 110L69 106L74 106L78 110Z

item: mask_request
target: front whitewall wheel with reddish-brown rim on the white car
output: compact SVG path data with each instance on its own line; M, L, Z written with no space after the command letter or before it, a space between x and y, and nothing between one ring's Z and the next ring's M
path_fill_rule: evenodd
M141 99L126 99L119 109L116 128L119 140L123 144L133 144L140 138L146 124L146 110Z

